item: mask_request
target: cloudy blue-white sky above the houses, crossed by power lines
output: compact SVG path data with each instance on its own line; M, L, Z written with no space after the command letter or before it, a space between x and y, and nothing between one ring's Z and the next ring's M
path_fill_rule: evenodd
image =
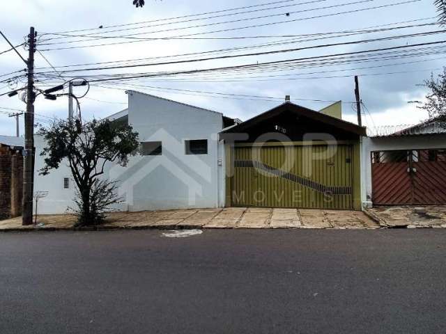
M84 118L104 117L124 109L127 103L125 90L133 89L220 111L242 120L282 103L285 95L291 95L293 102L315 110L329 105L330 101L342 100L344 119L355 122L351 102L355 100L353 76L358 74L362 101L368 111L364 116L365 125L372 127L413 124L426 118L408 101L422 100L426 92L417 84L431 72L438 73L443 66L444 46L410 45L445 39L443 33L438 33L441 27L430 24L436 21L432 2L146 0L146 6L141 9L132 6L131 0L18 0L2 2L0 29L14 45L19 45L24 41L29 26L36 27L40 50L36 53L36 72L39 73L37 86L40 88L60 84L76 76L94 80L109 79L110 75L155 74L126 81L92 81L91 90L81 100ZM231 8L238 9L229 10ZM198 15L201 13L208 14ZM99 26L102 29L98 29ZM426 32L432 33L422 34ZM116 38L118 35L124 38ZM383 40L394 36L398 38ZM359 41L364 42L357 43ZM353 43L346 45L346 42ZM339 43L344 45L331 45ZM331 46L316 47L320 45ZM353 58L352 55L335 56L331 60L314 58L401 46L406 47L354 54ZM93 70L111 65L190 61L302 47L307 49ZM0 40L0 52L8 48L6 42ZM26 56L24 47L19 47L19 51ZM309 57L312 59L302 60ZM300 63L160 76L160 72L290 59L297 59ZM49 67L47 61L58 72ZM6 82L17 74L23 74L8 73L23 68L24 63L13 51L0 54L0 75L3 74L0 77L3 81L0 82L0 94L24 86L23 77ZM63 72L74 69L83 71ZM76 88L75 94L82 95L84 89ZM0 134L15 135L15 122L8 117L8 112L13 111L6 108L24 109L25 104L17 96L1 96L0 108ZM56 101L48 101L38 97L35 111L40 122L64 118L68 115L68 100L59 97Z

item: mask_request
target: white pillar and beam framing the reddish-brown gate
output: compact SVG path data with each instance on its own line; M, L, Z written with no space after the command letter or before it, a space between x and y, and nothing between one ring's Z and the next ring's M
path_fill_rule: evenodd
M364 137L362 138L361 199L371 205L371 152L386 150L422 150L446 147L446 134Z

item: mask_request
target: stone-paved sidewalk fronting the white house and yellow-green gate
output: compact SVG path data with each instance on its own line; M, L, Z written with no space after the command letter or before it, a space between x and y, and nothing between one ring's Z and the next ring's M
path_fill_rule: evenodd
M38 216L38 227L22 226L22 218L0 221L0 232L22 230L72 230L71 215ZM362 212L320 209L269 209L228 207L146 212L115 212L94 230L116 228L335 228L374 229L378 223Z

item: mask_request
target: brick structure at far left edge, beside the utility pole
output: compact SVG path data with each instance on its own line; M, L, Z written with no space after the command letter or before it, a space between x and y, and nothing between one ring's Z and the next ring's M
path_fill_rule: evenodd
M0 219L22 214L23 145L23 138L0 136Z

